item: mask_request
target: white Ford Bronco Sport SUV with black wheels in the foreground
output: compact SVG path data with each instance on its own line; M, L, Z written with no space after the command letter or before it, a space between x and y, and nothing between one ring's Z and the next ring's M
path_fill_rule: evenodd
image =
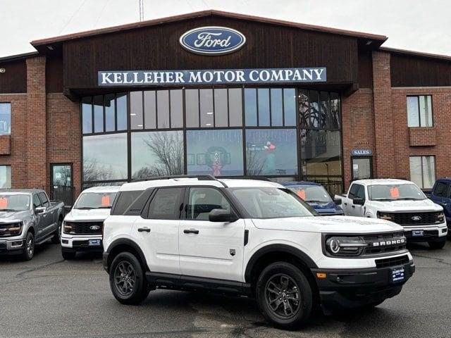
M123 184L104 222L104 268L121 303L156 288L253 296L290 329L320 305L378 305L415 265L388 220L318 217L274 182L185 175Z

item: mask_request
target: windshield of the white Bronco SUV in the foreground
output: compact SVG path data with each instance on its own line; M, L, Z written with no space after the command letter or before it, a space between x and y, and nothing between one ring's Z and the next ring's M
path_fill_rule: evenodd
M289 189L236 188L230 189L252 218L305 217L316 215Z

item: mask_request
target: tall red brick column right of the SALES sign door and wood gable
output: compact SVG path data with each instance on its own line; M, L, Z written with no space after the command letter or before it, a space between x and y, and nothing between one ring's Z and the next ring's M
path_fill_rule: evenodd
M373 51L373 99L376 177L395 177L390 53Z

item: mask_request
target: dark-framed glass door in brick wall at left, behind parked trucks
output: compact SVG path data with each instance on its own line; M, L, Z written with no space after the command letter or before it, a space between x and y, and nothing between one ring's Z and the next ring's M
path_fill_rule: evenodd
M51 199L63 201L66 206L72 206L74 202L72 163L52 164L50 171Z

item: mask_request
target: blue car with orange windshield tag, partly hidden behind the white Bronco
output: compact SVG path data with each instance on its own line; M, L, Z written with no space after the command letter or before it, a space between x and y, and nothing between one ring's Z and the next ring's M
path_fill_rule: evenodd
M338 206L340 201L333 201L326 189L319 183L288 181L281 184L295 192L322 216L344 214L342 208Z

